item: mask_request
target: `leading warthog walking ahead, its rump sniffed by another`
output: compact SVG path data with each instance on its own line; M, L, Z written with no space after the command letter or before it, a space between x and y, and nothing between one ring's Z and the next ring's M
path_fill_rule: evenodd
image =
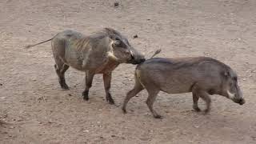
M202 98L206 102L205 113L210 111L212 94L230 98L240 105L245 103L237 74L230 66L213 58L151 58L139 64L134 75L134 89L127 93L123 102L124 113L130 98L144 88L149 94L146 104L154 118L161 118L153 108L160 90L169 94L192 92L194 110L200 111L198 98Z

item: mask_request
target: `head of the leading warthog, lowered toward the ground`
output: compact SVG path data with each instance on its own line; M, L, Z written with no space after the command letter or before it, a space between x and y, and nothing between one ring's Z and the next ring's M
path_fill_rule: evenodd
M238 86L238 76L233 70L228 70L224 74L223 95L233 102L243 105L246 101L242 97L242 90Z

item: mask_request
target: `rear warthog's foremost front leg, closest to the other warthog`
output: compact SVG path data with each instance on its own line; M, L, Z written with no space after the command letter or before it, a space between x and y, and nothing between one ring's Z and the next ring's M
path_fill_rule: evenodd
M112 73L103 74L103 81L104 81L104 87L105 87L105 92L106 92L106 101L109 102L111 105L113 105L114 99L112 98L112 96L110 94L111 74Z

